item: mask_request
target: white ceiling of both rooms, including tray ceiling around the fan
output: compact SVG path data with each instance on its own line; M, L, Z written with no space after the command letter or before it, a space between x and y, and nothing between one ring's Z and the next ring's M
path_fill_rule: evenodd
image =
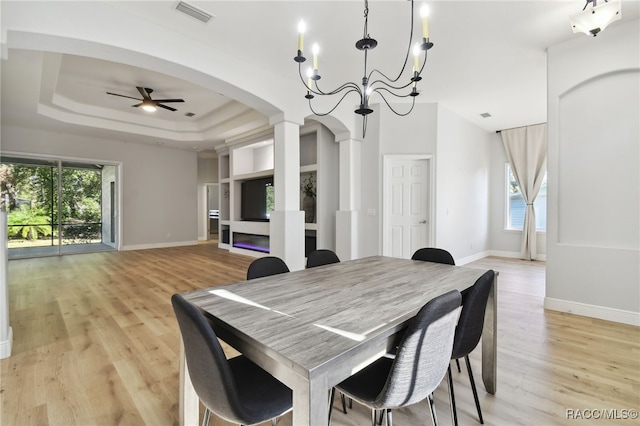
M2 19L10 23L7 3L11 2L2 2ZM215 17L203 24L177 12L177 1L109 2L101 7L113 8L108 19L114 31L130 31L127 25L132 19L153 24L163 37L187 37L243 57L256 74L273 73L296 83L296 27L304 18L308 28L305 50L313 41L322 46L323 86L361 79L362 56L353 47L362 36L360 1L188 3ZM450 0L429 5L435 46L429 51L418 102L440 103L487 131L546 121L546 48L586 37L573 34L568 23L568 16L582 9L582 0ZM637 22L639 6L638 1L624 1L622 21L613 25ZM379 42L370 54L370 64L397 73L408 41L409 3L371 0L369 9L369 33ZM606 37L606 31L598 37ZM150 114L132 108L137 103L133 99L106 94L139 97L136 86L152 88L156 99L182 98L185 102L170 104L176 112L158 109ZM295 87L302 97L303 87L299 83ZM162 70L60 53L11 49L2 61L1 95L3 125L125 138L200 152L268 124L267 117L242 103ZM186 113L195 115L187 117ZM482 113L491 117L482 118Z

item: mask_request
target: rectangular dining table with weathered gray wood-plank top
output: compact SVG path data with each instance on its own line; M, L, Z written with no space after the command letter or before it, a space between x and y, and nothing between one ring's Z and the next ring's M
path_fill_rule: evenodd
M384 356L418 310L472 286L487 270L370 256L183 293L219 339L293 391L293 424L326 425L329 390ZM497 276L482 334L482 380L497 381ZM180 423L198 424L199 400L180 354Z

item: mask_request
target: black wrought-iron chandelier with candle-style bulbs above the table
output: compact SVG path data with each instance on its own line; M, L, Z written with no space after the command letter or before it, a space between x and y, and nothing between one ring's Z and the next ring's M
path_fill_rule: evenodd
M368 31L368 23L369 23L369 2L368 0L364 1L364 29L362 32L362 39L356 42L356 49L364 52L364 72L362 76L362 81L360 84L355 82L347 82L338 86L337 88L325 91L320 88L319 80L321 78L318 73L318 53L319 47L318 44L315 43L312 47L313 54L313 66L310 66L306 70L306 81L303 76L302 64L307 60L303 54L303 37L305 32L305 24L304 21L300 21L298 25L298 54L294 61L298 63L298 73L300 74L300 80L302 84L304 84L307 94L305 98L309 100L309 108L311 112L313 112L317 116L325 116L331 114L340 103L345 99L345 97L351 93L355 92L360 96L360 103L358 108L354 111L356 114L362 116L362 137L364 138L367 130L367 115L373 112L371 106L369 105L369 100L371 99L371 95L377 93L385 104L389 107L389 109L396 115L405 116L409 115L413 110L416 102L416 96L420 94L418 92L418 82L422 80L422 71L424 70L424 66L427 63L427 51L433 47L433 43L429 41L429 23L427 21L428 10L426 5L423 5L420 10L420 15L422 17L422 40L421 42L417 42L413 45L413 0L411 0L411 21L410 21L410 32L409 32L409 44L407 45L407 53L404 58L404 63L395 78L388 77L382 71L378 69L372 69L369 71L368 68L368 56L369 51L374 49L378 42L371 38ZM413 46L412 46L413 45ZM411 52L413 51L414 63L413 63L413 72L407 78L407 76L402 79L403 74L405 73L405 69L407 68L407 63L409 62L409 57ZM424 54L423 54L424 52ZM402 81L401 81L402 79ZM338 100L336 104L330 108L326 112L318 112L313 108L311 104L311 100L316 96L337 96ZM411 107L408 111L399 112L395 108L391 106L389 100L387 98L411 98Z

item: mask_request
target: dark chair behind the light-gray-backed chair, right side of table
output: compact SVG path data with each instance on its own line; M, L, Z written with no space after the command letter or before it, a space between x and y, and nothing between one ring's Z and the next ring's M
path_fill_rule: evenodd
M460 312L460 318L458 319L456 335L453 340L453 351L451 353L451 359L455 359L457 362L459 358L464 358L464 361L467 364L469 382L471 384L471 390L473 391L476 410L478 411L478 419L481 424L484 424L484 419L482 418L482 410L480 409L480 401L478 400L476 382L473 379L473 371L471 370L471 363L469 362L469 354L476 348L476 346L478 346L480 337L482 336L484 314L487 309L487 302L489 300L489 293L491 292L494 277L495 272L489 270L482 274L482 276L478 278L471 287L462 291L462 311ZM458 372L459 371L460 364L458 363ZM453 391L451 367L449 367L448 376L453 423L457 425L458 414L456 412L456 398Z

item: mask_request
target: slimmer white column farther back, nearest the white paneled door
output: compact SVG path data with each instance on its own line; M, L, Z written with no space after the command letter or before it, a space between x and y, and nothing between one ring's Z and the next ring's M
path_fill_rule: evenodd
M336 254L342 260L358 258L360 211L360 144L354 139L340 144L340 205L336 212Z

